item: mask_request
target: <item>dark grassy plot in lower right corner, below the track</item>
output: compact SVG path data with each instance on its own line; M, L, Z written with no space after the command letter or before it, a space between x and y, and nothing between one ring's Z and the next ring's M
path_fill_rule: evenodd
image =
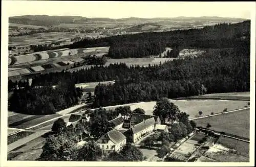
M249 157L250 144L248 142L221 136L217 141L217 143L229 149L237 150L237 154L240 154L245 157Z

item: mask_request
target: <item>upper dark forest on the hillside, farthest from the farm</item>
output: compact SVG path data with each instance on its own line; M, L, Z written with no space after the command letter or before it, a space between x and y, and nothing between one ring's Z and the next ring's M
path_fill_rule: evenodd
M165 47L225 48L236 47L250 37L250 21L237 24L221 23L203 29L176 30L119 35L74 42L71 48L110 46L109 57L129 58L158 55ZM249 39L247 39L249 41Z

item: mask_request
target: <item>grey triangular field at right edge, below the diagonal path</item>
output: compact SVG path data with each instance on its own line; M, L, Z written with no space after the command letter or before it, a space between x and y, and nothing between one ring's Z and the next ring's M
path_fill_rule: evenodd
M240 101L238 101L240 102ZM206 127L207 123L211 125L209 129L224 131L226 133L249 138L250 134L250 110L241 110L216 116L205 117L194 120L197 126Z

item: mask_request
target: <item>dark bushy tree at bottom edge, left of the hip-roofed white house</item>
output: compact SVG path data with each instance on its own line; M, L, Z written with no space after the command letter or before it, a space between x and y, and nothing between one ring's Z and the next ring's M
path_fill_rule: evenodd
M102 156L102 151L98 145L89 141L79 149L78 161L97 161Z

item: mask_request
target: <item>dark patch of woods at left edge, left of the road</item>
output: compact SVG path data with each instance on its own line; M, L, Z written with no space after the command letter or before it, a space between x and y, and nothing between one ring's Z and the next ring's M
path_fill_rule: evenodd
M55 88L31 87L26 83L23 88L14 89L8 110L32 115L54 114L76 105L82 95L81 89L71 82L60 83Z

